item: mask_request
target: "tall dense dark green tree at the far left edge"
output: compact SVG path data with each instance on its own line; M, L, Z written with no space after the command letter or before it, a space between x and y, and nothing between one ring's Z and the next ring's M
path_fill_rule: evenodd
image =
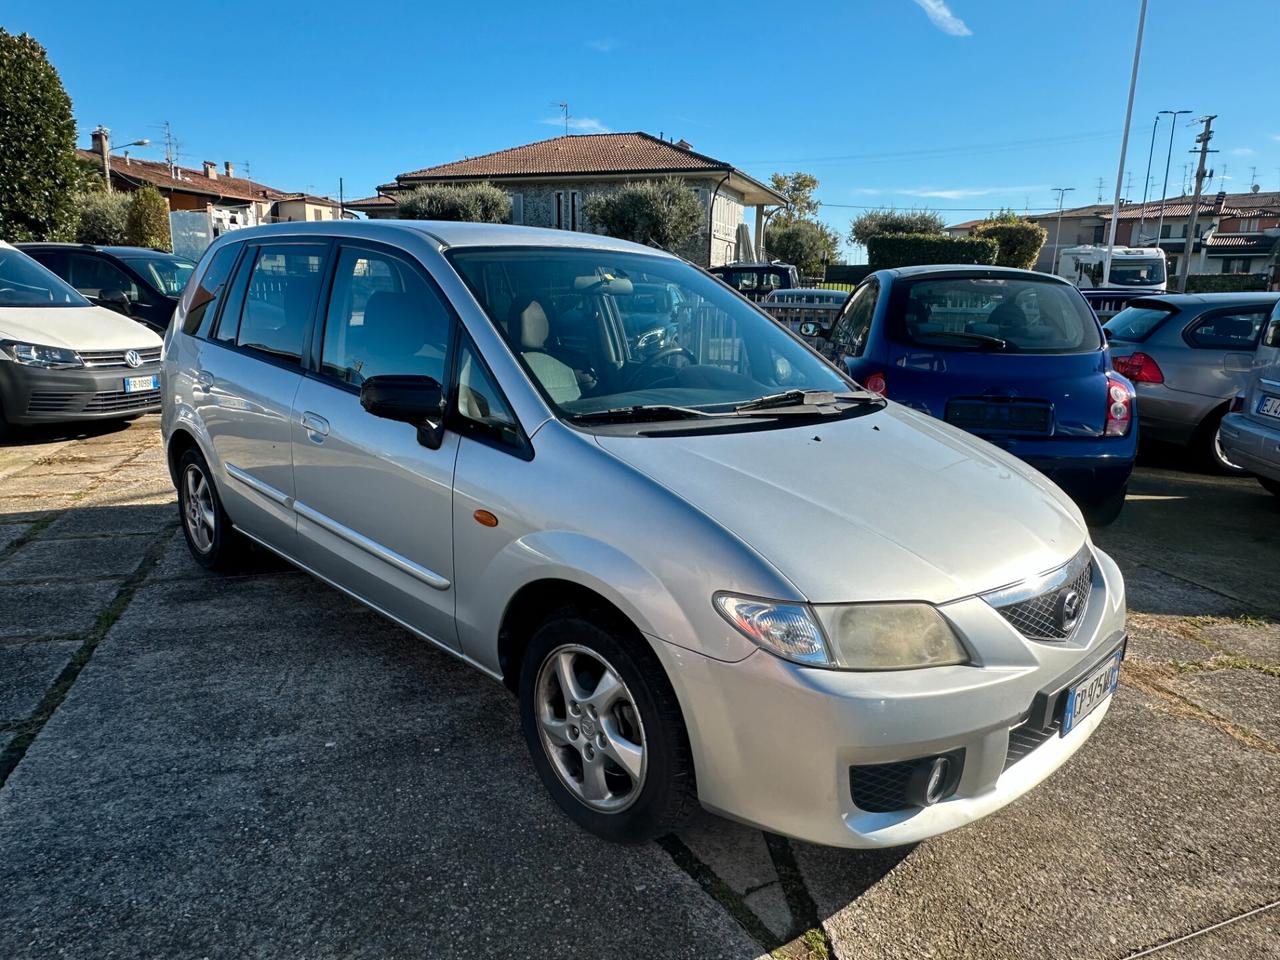
M76 221L76 120L45 49L0 27L0 237L69 238Z

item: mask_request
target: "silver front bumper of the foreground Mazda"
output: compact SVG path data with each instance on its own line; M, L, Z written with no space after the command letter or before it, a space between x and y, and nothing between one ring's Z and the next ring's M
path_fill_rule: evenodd
M975 664L855 673L788 663L763 650L724 663L654 643L685 714L698 794L717 813L799 840L844 847L914 844L998 810L1071 756L1110 699L1066 736L1019 749L1020 732L1055 692L1124 637L1124 581L1094 550L1097 581L1075 636L1024 639L986 600L940 609ZM980 643L974 637L980 636ZM860 809L850 768L963 751L955 792L932 806Z

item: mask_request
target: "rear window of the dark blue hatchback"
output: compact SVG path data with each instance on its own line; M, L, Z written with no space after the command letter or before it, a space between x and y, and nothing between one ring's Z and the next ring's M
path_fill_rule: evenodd
M931 349L1087 353L1102 347L1098 321L1079 291L1021 276L900 280L890 330L899 342Z

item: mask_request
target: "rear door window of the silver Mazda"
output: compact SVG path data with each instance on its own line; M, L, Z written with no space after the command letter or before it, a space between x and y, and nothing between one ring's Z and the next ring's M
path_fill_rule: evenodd
M278 360L302 362L326 251L328 244L319 243L259 248L241 307L238 346ZM223 326L225 324L224 316Z

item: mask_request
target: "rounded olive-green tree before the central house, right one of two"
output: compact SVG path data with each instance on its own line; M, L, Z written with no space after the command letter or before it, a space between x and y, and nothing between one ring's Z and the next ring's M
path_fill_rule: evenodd
M582 204L591 225L620 239L675 250L701 229L705 211L696 195L678 179L626 183L608 193L591 193Z

